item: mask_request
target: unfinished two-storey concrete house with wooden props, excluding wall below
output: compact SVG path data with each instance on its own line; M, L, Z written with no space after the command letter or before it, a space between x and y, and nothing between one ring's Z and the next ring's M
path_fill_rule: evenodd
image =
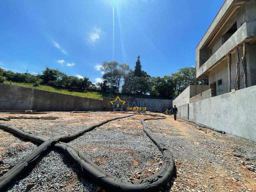
M211 96L256 85L256 0L224 2L196 47L196 78Z

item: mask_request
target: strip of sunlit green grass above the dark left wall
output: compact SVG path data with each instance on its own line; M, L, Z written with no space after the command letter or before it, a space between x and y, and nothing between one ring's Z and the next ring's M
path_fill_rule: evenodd
M10 81L5 81L4 83L22 86L22 87L34 88L34 89L39 89L39 90L44 90L44 91L62 93L62 94L67 94L67 95L100 99L100 100L103 100L103 97L113 98L113 96L110 96L110 94L99 93L99 92L94 92L94 91L84 92L83 90L80 90L80 89L56 88L56 87L45 86L45 85L40 85L40 86L34 87L32 83L18 83L18 82L10 82Z

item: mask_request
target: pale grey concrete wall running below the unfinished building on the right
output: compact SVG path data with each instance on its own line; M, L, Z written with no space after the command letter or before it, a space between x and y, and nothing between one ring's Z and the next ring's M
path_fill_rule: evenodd
M256 86L251 86L189 103L188 118L217 130L256 141L255 104ZM179 112L178 116L182 117L183 114L186 112Z

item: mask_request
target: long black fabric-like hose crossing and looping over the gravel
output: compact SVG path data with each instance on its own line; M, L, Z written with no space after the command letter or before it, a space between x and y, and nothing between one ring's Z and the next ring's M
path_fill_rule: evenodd
M151 115L151 116L157 116L159 118L147 118L147 119L141 119L141 123L143 125L143 130L146 133L146 135L156 144L156 146L159 148L159 150L162 152L164 157L164 164L161 168L161 170L154 174L153 176L150 176L148 178L136 180L136 181L127 181L122 180L120 178L116 178L115 176L112 176L108 173L106 173L104 170L102 170L100 167L98 167L96 164L94 164L91 160L86 158L83 154L81 154L75 147L63 143L61 141L64 140L72 140L74 138L77 138L78 136L84 134L84 132L93 130L94 128L101 126L103 124L106 124L107 122L117 120L120 118L126 118L129 116L134 116L136 114L130 114L127 116L122 117L116 117L104 120L102 122L99 122L97 124L88 126L82 130L79 130L77 132L74 132L73 134L69 135L60 135L55 136L53 138L46 138L44 136L40 135L33 135L30 132L25 132L24 130L20 128L16 128L14 126L9 126L6 124L0 124L0 128L3 128L5 130L8 130L10 132L13 132L14 134L18 134L19 136L36 141L38 143L42 143L40 146L38 146L35 150L33 150L22 162L18 163L16 166L14 166L11 170L9 170L4 176L0 178L0 191L2 191L4 188L9 186L11 182L14 181L15 178L20 176L20 174L26 170L30 164L35 162L35 160L38 159L46 150L48 150L51 146L54 146L62 151L64 151L68 156L80 166L82 169L82 172L86 173L87 176L90 176L95 182L105 186L106 188L109 188L114 191L126 191L126 192L132 192L132 191L152 191L156 188L159 188L160 186L164 186L168 180L172 177L173 170L174 170L174 160L173 157L166 147L164 143L162 143L156 135L154 135L147 127L145 120L156 120L156 119L163 119L166 118L165 116L159 116L159 115Z

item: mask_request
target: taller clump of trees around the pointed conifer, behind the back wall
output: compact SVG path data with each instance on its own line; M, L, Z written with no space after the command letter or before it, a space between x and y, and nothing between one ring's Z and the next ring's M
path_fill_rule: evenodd
M128 64L103 62L100 68L103 82L97 86L104 92L122 94L143 94L150 96L178 96L189 85L195 84L196 68L185 67L164 77L151 77L142 70L138 56L134 70ZM208 80L199 80L197 84L208 84Z

